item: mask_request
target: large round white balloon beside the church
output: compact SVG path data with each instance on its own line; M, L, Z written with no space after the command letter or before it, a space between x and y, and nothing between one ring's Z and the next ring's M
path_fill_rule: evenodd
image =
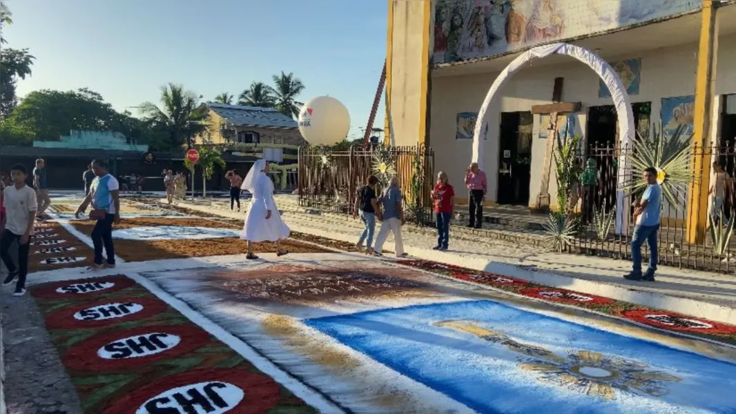
M341 101L318 96L307 101L299 114L299 132L312 145L334 145L347 138L350 113Z

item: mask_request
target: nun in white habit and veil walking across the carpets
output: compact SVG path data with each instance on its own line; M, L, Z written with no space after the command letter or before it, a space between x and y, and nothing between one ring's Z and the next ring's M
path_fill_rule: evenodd
M281 248L281 239L289 237L289 227L281 221L281 215L278 213L274 201L274 184L266 175L269 169L265 160L256 161L241 185L242 190L248 190L253 196L248 213L245 215L243 234L240 236L248 242L249 260L258 259L253 254L252 243L262 241L276 242L278 256L288 253Z

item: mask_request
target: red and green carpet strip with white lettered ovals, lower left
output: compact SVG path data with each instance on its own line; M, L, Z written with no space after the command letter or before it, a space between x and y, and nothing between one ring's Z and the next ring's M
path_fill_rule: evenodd
M316 412L126 276L31 291L85 413Z

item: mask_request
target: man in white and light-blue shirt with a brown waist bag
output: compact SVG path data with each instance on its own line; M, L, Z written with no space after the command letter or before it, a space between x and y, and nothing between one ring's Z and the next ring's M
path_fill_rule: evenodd
M77 208L77 217L87 210L92 203L93 212L90 218L97 221L92 230L94 244L94 264L88 270L115 267L115 248L113 246L113 223L120 223L120 184L107 171L107 163L103 160L94 160L92 170L95 179L92 188L82 204ZM105 246L107 265L102 265L102 246Z

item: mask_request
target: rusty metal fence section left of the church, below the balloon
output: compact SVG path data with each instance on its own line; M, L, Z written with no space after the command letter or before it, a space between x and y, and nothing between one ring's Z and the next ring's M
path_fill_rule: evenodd
M337 213L352 212L358 188L365 184L368 176L375 174L374 157L377 151L382 149L361 149L356 146L347 151L300 149L300 205ZM430 192L434 185L434 151L425 146L397 146L383 151L387 151L392 160L405 204L407 198L411 198L415 162L422 163L422 191L418 203L429 212L432 207Z

